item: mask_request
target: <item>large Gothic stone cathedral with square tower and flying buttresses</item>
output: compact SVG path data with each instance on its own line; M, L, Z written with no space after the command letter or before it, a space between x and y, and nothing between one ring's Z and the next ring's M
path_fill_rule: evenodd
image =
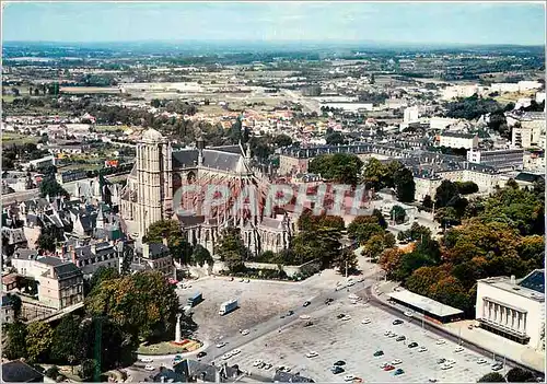
M201 139L195 149L174 150L156 130L148 129L137 144L135 166L120 193L119 208L130 237L142 238L148 228L162 219L181 222L189 243L200 244L211 255L223 228L241 229L245 245L254 255L280 252L289 246L294 223L287 214L264 214L269 179L251 166L251 150L238 146L205 148ZM183 186L196 185L178 193ZM218 207L206 207L208 186L222 185L230 198ZM241 197L253 188L257 208ZM181 196L182 195L182 196ZM233 205L240 199L242 209ZM179 200L179 201L178 201Z

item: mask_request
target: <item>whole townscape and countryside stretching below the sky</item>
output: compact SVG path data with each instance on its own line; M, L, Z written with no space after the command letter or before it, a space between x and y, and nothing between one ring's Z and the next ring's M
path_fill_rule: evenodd
M545 381L545 47L2 61L3 380Z

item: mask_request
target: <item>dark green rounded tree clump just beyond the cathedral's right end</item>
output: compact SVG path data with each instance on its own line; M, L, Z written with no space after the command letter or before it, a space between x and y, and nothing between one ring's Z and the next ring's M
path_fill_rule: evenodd
M310 162L311 173L340 184L357 185L363 162L354 154L322 154Z

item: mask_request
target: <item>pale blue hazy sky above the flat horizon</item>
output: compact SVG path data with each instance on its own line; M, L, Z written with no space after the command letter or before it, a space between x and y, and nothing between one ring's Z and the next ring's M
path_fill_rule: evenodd
M545 5L494 2L12 2L4 42L545 44Z

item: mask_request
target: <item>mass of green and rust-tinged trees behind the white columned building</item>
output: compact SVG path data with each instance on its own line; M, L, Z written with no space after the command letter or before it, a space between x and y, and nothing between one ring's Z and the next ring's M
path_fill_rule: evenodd
M410 291L474 315L476 282L489 276L524 277L544 268L544 193L509 183L486 199L473 199L462 223L441 242L431 231L412 224L399 240L409 249L386 249L380 264L389 279Z

